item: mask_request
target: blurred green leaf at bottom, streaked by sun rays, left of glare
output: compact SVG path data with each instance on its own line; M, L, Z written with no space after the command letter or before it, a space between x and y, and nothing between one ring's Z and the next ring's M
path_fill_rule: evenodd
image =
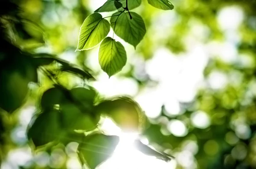
M87 164L90 169L95 169L96 166L111 157L118 143L118 136L108 136L99 133L88 135L79 144L78 154L82 162Z

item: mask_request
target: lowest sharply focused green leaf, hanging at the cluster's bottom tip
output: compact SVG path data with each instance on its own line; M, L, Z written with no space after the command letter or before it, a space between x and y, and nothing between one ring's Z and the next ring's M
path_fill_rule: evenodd
M99 47L99 64L109 77L120 72L127 61L124 46L111 37L106 37Z

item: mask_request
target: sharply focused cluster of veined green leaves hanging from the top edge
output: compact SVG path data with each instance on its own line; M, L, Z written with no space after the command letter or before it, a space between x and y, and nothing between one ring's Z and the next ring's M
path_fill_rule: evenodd
M122 43L112 37L107 37L110 27L113 35L116 34L125 42L136 46L141 42L146 33L143 18L129 10L141 5L141 0L107 0L101 7L89 15L81 25L78 46L76 51L92 49L99 46L99 65L109 77L120 72L127 61L127 54ZM148 0L155 8L172 10L174 6L168 0ZM100 12L117 11L110 19L110 23L102 17Z

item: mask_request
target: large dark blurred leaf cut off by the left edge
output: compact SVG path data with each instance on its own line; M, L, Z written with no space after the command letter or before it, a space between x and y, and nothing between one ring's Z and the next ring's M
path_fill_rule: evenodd
M12 49L13 55L0 61L0 107L7 112L13 112L25 101L29 82L38 82L35 65L29 55L17 49Z

